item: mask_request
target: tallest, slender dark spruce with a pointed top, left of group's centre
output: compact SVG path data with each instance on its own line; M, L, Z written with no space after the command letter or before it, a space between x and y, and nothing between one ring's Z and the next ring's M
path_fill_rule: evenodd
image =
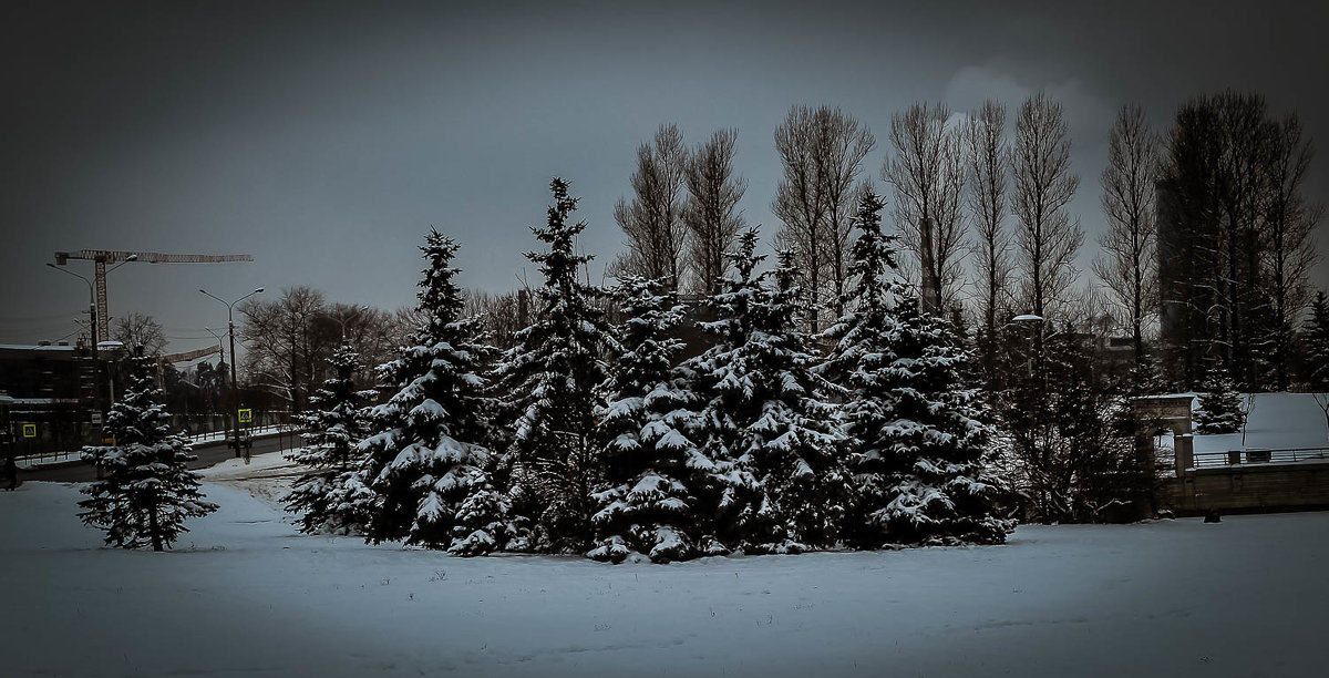
M549 221L532 231L549 251L526 253L545 283L536 290L533 324L518 330L493 376L513 424L513 510L530 518L528 548L586 553L591 548L601 448L595 436L598 387L607 378L603 355L614 347L603 291L581 282L591 259L577 254L585 222L570 223L577 199L553 179Z

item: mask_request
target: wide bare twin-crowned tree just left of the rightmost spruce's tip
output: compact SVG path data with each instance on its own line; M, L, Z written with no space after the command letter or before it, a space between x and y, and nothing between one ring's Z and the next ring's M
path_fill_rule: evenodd
M836 314L843 312L855 183L863 158L876 144L872 132L837 108L792 106L784 124L775 128L775 149L784 170L771 205L784 222L776 243L795 253L813 332L820 328L819 311L828 296L833 296ZM824 288L828 279L831 290Z

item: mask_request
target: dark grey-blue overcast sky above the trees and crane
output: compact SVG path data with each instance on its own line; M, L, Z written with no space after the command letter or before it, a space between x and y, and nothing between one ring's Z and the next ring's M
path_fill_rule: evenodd
M772 132L795 102L865 122L878 138L867 173L884 190L892 113L990 96L1014 108L1046 89L1067 109L1071 209L1091 239L1122 104L1164 128L1191 96L1256 90L1275 113L1297 110L1321 149L1329 138L1314 3L918 5L5 3L0 342L74 330L86 288L44 267L56 250L253 254L112 274L112 315L157 316L173 350L209 344L202 327L226 320L198 287L412 303L431 225L462 243L466 284L506 290L553 175L582 197L583 245L603 263L634 149L667 121L690 145L739 129L742 206L766 235ZM1310 182L1320 199L1326 162Z

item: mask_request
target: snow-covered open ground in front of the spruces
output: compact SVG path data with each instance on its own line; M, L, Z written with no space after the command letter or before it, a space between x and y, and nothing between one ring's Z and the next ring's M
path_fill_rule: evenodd
M177 550L0 492L3 675L1325 675L1329 513L1022 526L1005 546L603 565L306 537L276 455Z

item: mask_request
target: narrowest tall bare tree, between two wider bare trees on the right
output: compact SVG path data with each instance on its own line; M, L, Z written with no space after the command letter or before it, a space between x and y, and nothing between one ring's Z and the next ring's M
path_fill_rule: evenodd
M998 101L985 101L965 124L968 205L975 235L970 251L978 274L981 359L989 378L997 363L998 318L1005 315L999 308L1010 294L1010 235L1005 229L1010 150L1005 130L1006 106Z

